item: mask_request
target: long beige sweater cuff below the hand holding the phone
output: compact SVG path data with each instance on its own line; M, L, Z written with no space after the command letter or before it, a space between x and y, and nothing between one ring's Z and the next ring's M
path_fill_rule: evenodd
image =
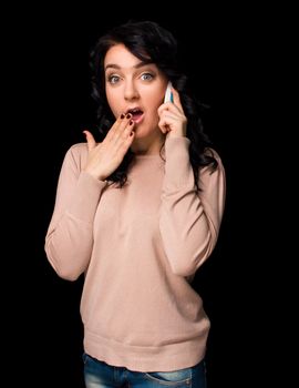
M189 161L188 137L167 137L165 142L165 185L182 187L194 185L194 175Z

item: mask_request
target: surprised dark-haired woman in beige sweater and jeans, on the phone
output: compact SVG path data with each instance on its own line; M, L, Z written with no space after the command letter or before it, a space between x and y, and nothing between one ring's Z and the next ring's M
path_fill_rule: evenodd
M210 324L192 279L218 237L220 157L171 32L151 21L116 27L92 69L100 142L84 131L86 143L68 151L45 239L61 277L84 273L86 387L206 387Z

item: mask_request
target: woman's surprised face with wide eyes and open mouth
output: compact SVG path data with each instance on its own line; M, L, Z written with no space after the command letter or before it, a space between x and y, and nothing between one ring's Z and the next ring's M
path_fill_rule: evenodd
M161 137L157 109L163 103L167 80L154 63L145 64L123 44L105 55L105 90L115 118L132 113L135 139Z

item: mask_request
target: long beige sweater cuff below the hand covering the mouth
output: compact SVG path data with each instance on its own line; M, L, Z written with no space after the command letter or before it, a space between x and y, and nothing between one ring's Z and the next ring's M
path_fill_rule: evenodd
M95 180L89 173L81 172L69 214L85 223L92 223L105 186L106 182Z

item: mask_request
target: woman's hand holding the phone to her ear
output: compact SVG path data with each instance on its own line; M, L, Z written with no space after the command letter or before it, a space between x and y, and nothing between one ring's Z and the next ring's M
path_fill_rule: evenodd
M187 118L184 114L178 92L172 88L174 102L166 102L158 108L158 126L167 136L186 136Z

